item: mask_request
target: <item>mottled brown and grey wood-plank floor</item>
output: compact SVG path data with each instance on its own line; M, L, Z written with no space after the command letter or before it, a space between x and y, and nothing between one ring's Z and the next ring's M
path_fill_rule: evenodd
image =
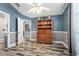
M40 44L25 40L18 46L0 49L0 56L69 56L69 51L61 43Z

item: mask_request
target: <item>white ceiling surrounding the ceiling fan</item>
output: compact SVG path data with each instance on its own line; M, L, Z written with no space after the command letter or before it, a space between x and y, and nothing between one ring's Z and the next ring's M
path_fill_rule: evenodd
M22 15L28 17L39 17L39 15L34 13L28 13L28 11L32 8L32 6L28 5L27 3L18 3L20 7L17 7L15 3L11 3L11 5L18 10ZM49 15L61 15L63 14L67 3L42 3L42 6L50 8L50 11L42 11L40 16L49 16Z

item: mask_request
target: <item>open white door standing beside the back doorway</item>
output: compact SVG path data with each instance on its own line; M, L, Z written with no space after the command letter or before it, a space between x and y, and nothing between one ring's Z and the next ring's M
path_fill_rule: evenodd
M18 44L23 42L23 20L18 18Z

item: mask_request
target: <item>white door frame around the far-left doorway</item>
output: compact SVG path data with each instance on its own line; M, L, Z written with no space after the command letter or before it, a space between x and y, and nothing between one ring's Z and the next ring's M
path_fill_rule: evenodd
M8 25L8 31L6 32L8 35L7 35L7 48L9 48L10 47L10 14L8 14L8 13L6 13L6 12L4 12L4 11L2 11L2 10L0 10L0 13L3 13L3 14L5 14L5 15L7 15L8 17L8 19L7 19L7 25Z

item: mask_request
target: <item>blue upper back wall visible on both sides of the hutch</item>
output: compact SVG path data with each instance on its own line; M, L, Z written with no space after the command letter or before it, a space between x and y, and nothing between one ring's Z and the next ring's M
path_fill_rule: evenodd
M61 15L57 15L57 16L51 16L53 25L52 26L52 30L54 31L62 31L62 16ZM37 20L38 18L32 18L32 30L37 30Z

